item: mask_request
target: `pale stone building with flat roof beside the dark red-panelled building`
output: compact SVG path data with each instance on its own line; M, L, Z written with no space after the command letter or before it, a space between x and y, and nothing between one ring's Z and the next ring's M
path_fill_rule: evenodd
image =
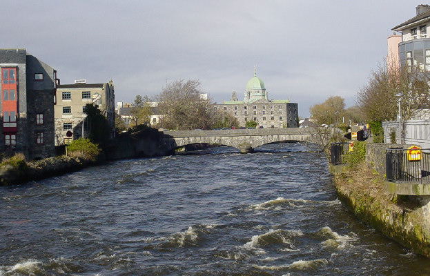
M84 110L87 103L95 103L115 130L115 89L107 83L61 84L57 87L55 105L55 146L68 144L73 139L88 137L88 121ZM113 135L113 132L112 132Z

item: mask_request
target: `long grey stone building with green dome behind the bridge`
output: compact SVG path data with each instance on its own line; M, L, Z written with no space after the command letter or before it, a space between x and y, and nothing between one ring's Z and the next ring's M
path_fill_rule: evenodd
M257 127L263 128L298 128L298 105L289 100L268 99L268 92L262 79L254 77L244 92L244 100L239 101L233 91L230 101L215 104L215 109L224 115L231 115L245 126L247 121L256 121Z

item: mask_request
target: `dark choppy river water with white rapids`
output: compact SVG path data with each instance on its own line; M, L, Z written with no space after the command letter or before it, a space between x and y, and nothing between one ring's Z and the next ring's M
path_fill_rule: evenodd
M429 275L308 144L115 161L0 187L0 275Z

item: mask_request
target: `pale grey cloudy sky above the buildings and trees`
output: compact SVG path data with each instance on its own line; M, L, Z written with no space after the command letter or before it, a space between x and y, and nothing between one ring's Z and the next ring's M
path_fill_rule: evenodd
M2 0L0 48L26 48L61 84L113 80L115 101L197 79L217 103L243 100L257 68L269 99L300 117L330 96L355 105L416 0ZM427 3L429 4L429 3Z

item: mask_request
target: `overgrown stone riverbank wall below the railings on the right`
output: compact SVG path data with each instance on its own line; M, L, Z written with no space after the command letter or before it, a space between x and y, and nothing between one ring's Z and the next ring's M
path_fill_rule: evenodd
M430 257L430 197L388 193L384 189L384 175L372 166L381 164L362 162L335 173L339 199L355 217L386 237Z

